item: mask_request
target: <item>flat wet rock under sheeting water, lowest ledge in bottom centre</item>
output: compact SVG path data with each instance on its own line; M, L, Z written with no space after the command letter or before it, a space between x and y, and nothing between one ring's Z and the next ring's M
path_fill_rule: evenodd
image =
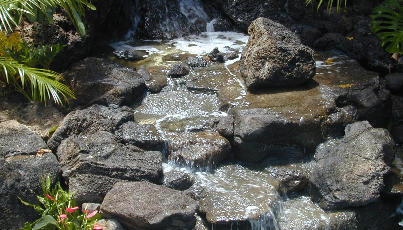
M222 165L206 179L199 210L212 224L258 219L276 209L280 183L266 172Z

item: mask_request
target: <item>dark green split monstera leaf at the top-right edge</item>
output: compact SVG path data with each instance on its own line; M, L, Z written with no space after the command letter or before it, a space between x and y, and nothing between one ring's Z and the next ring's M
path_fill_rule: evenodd
M403 51L403 7L400 1L386 0L370 16L371 31L389 53Z

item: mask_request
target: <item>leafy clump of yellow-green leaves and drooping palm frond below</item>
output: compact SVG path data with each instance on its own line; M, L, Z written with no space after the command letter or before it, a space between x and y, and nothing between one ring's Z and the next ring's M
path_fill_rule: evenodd
M0 32L0 82L12 90L22 93L30 101L46 104L46 96L52 97L57 104L64 104L67 96L74 93L58 73L48 70L50 62L64 46L38 46L21 41L19 33L9 37ZM64 98L64 100L62 99Z

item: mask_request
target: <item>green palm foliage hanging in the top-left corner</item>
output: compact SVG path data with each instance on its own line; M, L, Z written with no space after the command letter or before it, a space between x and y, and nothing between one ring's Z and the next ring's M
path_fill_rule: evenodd
M57 7L66 10L71 22L83 36L85 27L81 17L85 17L85 7L96 10L88 0L0 0L0 30L13 31L18 27L23 16L29 21L39 23L53 22L53 14Z

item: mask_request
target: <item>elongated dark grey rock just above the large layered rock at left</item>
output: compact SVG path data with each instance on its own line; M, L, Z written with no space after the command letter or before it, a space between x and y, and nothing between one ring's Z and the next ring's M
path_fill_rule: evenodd
M60 142L71 135L80 136L99 131L113 132L116 126L133 119L131 112L122 111L120 108L93 105L84 110L75 110L60 123L49 139L48 145L55 152Z

